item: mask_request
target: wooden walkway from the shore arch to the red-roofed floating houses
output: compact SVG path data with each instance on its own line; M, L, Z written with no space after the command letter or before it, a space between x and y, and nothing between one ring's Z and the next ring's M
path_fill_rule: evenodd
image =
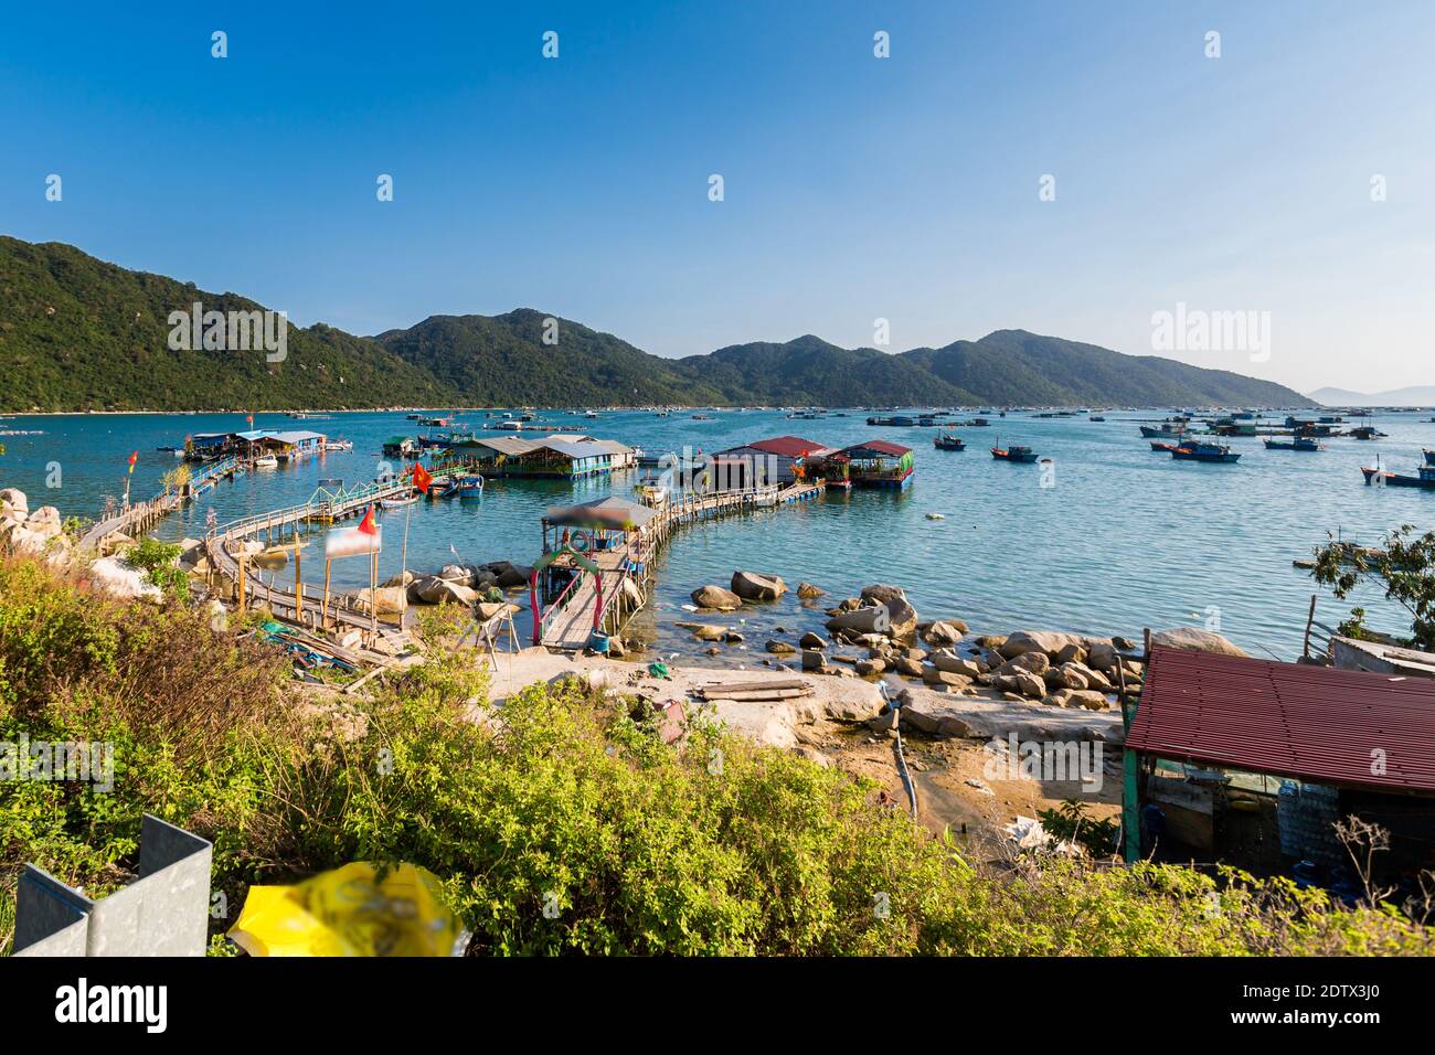
M631 614L647 601L653 576L653 557L667 544L677 528L700 521L729 517L753 510L771 510L817 498L825 485L792 484L785 488L766 487L753 491L720 491L718 494L684 498L660 507L659 514L636 531L636 540L620 550L588 554L601 573L603 609L598 626L616 633ZM581 652L593 636L598 581L591 573L580 574L564 593L548 606L540 624L541 643L550 649Z

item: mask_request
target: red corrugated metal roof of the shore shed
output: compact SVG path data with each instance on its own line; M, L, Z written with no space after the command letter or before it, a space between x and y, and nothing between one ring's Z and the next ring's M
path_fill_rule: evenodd
M1157 647L1126 746L1314 782L1435 791L1435 680Z

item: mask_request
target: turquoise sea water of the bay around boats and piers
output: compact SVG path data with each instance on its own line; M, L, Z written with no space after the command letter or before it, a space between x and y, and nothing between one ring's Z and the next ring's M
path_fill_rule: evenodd
M992 428L967 428L964 452L936 451L933 429L872 428L865 412L789 421L775 411L712 411L712 421L674 412L603 412L598 419L544 413L564 432L620 439L650 452L684 445L712 452L773 435L799 435L841 446L881 436L916 449L917 472L901 494L829 492L796 507L736 517L682 531L657 567L654 611L660 647L695 652L672 623L684 617L687 594L705 583L726 584L735 568L782 576L791 586L808 580L834 596L877 581L895 583L924 619L957 616L973 630L1065 629L1138 634L1142 627L1205 626L1247 650L1292 659L1300 650L1309 597L1307 573L1292 567L1327 531L1376 543L1398 524L1429 530L1435 491L1365 487L1359 466L1382 464L1413 475L1422 446L1435 446L1429 412L1380 415L1388 439L1327 441L1320 454L1267 451L1258 439L1231 439L1244 456L1236 465L1175 462L1154 454L1137 419L1158 412L1109 412L1105 422L1085 416L1040 419L1013 412L992 416ZM1422 421L1424 419L1424 421ZM482 413L459 415L475 428ZM419 432L399 412L334 413L313 421L255 415L255 428L313 429L354 442L352 454L327 454L296 466L257 472L221 484L158 534L199 537L208 510L220 522L303 502L321 478L347 484L372 479L386 438ZM178 459L161 445L181 445L191 432L244 429L243 415L88 415L10 416L0 429L43 431L0 436L0 487L19 487L30 507L55 505L65 515L98 517L105 495L121 495L126 459L139 451L133 497L161 487ZM987 452L996 439L1026 444L1055 461L1052 487L1040 465L1013 465ZM55 481L57 468L59 487ZM629 494L636 472L555 484L489 481L482 502L423 502L412 507L409 567L436 570L453 560L507 558L531 563L540 553L538 518L554 504ZM944 520L928 520L928 512ZM399 571L403 511L385 514L380 574ZM363 561L337 561L336 587L366 583ZM306 566L306 571L310 566ZM283 573L281 573L283 574ZM1379 629L1403 632L1408 620L1379 597L1359 601ZM1353 603L1353 601L1350 601ZM1335 624L1350 603L1323 596L1317 619ZM743 611L748 644L761 650L775 626L798 630L825 616L795 597Z

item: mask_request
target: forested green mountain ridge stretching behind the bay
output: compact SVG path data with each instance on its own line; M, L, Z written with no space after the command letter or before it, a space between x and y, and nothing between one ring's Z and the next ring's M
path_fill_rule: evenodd
M288 327L283 362L168 347L168 316L254 311L235 293L0 237L0 409L376 406L1313 406L1273 382L997 330L898 355L806 334L664 359L535 309L430 316L360 337Z

